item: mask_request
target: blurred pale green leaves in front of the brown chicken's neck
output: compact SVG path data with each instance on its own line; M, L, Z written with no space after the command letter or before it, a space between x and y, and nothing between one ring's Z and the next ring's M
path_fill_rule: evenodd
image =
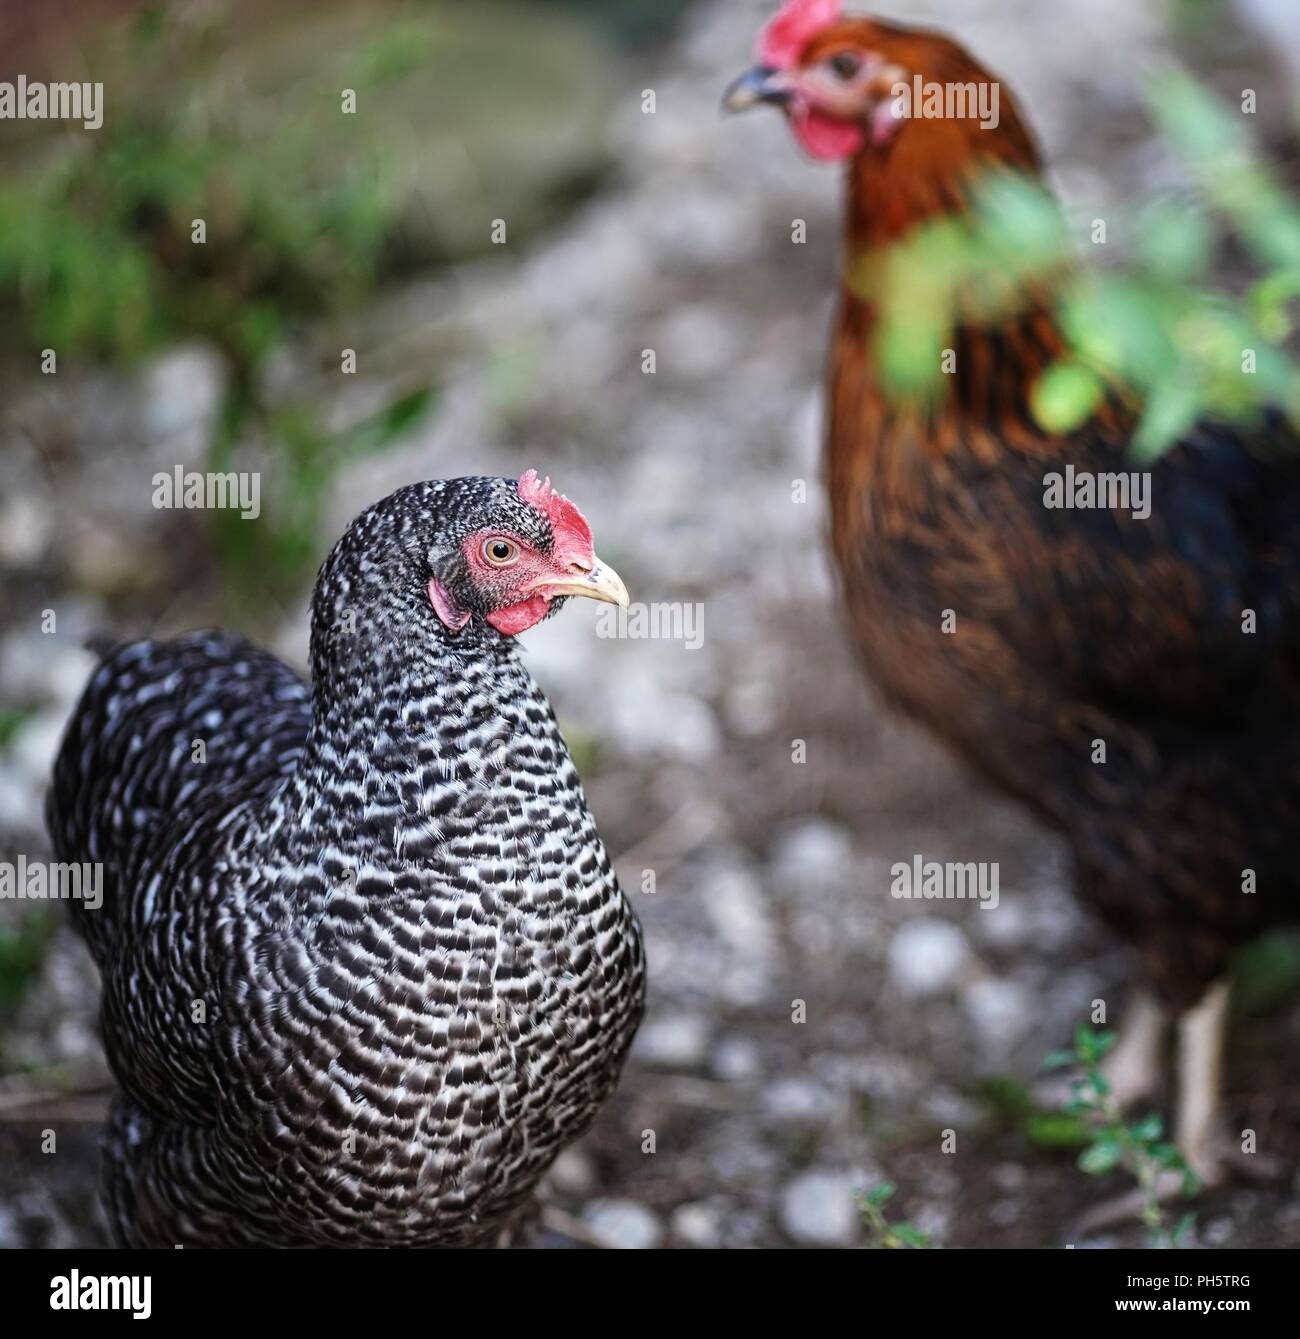
M1300 205L1252 149L1242 114L1190 76L1153 80L1149 103L1194 197L1157 198L1129 220L1107 220L1111 240L1134 240L1126 266L1080 268L1055 198L1004 171L977 183L969 217L929 224L868 261L882 266L861 281L881 295L877 355L892 396L941 396L941 352L957 324L996 324L1050 301L1070 349L1031 396L1050 432L1080 427L1110 392L1141 406L1141 459L1201 418L1249 424L1272 406L1300 422L1300 370L1287 348L1300 296ZM1216 274L1226 242L1250 270L1240 295Z

